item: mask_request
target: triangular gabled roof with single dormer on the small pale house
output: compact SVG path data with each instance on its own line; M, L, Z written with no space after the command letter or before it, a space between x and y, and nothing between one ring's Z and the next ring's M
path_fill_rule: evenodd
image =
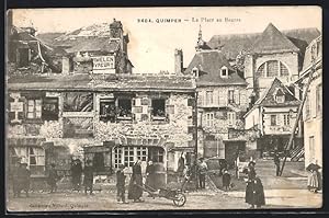
M277 103L274 99L275 93L285 95L283 103ZM261 106L297 106L300 101L277 79L275 78L271 87L263 93L263 95L254 103Z

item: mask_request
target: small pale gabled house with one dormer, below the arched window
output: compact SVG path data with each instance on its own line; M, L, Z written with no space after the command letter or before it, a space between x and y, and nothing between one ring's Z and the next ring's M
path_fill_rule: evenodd
M261 151L285 149L296 122L299 104L300 101L275 78L270 88L245 115L246 130L258 131L258 137L254 138L256 149ZM298 146L300 146L300 140L295 140L295 142L299 142Z

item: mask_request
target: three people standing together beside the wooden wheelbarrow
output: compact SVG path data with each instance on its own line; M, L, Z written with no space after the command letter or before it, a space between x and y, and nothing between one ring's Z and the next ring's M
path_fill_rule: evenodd
M125 184L126 184L126 173L125 165L120 164L116 171L116 197L117 203L128 204L125 199ZM156 169L152 161L148 161L146 167L146 182L143 184L141 174L141 160L138 159L133 165L133 173L131 176L128 185L128 199L133 199L134 203L141 203L143 191L148 190L150 192L156 191Z

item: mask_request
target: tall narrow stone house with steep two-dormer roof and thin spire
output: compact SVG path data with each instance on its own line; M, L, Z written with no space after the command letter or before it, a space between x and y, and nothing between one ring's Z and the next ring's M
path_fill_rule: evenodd
M195 49L184 74L192 74L196 81L200 154L232 160L237 150L246 150L246 139L232 133L243 130L247 83L230 66L220 47L207 46L201 30Z

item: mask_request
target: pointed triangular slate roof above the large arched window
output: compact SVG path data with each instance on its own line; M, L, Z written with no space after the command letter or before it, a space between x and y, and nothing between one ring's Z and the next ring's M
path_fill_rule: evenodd
M260 37L251 47L252 53L271 54L285 51L299 51L284 34L282 34L272 23L268 25Z

